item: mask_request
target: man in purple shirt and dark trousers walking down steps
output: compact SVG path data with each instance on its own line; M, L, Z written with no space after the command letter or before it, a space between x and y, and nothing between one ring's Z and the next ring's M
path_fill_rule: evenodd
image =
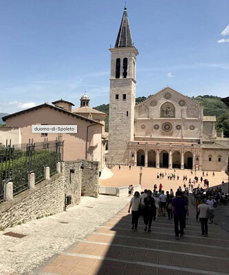
M186 211L188 210L187 202L182 198L182 192L177 191L176 197L172 201L173 213L174 213L174 229L175 229L175 239L179 240L180 235L184 236L184 227L186 219ZM178 230L178 225L180 230Z

